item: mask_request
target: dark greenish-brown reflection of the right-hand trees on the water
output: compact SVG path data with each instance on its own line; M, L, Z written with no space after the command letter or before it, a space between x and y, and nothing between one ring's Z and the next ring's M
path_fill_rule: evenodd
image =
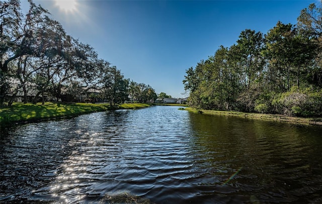
M195 144L199 147L194 149L218 179L202 185L212 186L211 193L224 193L225 198L229 194L224 202L321 201L321 129L224 116L190 116L198 135Z

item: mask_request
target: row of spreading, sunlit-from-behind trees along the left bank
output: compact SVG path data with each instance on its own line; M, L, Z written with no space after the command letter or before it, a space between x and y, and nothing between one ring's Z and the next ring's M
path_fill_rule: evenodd
M92 46L67 35L47 10L28 2L23 14L20 1L0 1L0 107L11 105L19 90L25 103L44 102L45 95L70 102L89 90L111 104L157 98L152 87L125 79Z

